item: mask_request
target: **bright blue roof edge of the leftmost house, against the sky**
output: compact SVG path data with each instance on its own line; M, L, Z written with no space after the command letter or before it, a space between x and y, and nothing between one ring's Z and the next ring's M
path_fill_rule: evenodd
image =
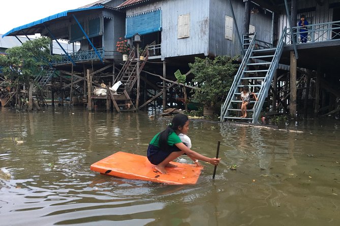
M78 12L78 11L85 11L85 10L95 10L95 9L101 9L101 8L104 8L104 6L94 6L94 7L88 7L88 8L67 10L67 11L64 11L64 12L57 13L57 14L54 14L52 16L46 17L44 19L40 19L40 20L34 21L32 23L28 23L28 24L25 24L25 25L13 28L12 30L10 30L6 34L4 34L3 37L5 37L5 36L7 36L9 34L13 34L13 35L24 35L24 34L27 34L27 35L29 35L29 34L38 33L38 32L35 32L35 31L32 31L33 33L27 33L27 32L22 33L22 32L17 32L17 31L28 29L28 28L31 28L31 27L43 24L44 22L51 21L51 20L54 20L54 19L58 19L58 18L61 18L61 17L66 17L69 13L74 13L74 12Z

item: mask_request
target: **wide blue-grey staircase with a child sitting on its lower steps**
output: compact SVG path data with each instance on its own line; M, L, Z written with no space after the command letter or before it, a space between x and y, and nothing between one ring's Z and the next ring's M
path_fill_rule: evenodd
M243 39L244 41L248 41L248 43L244 43L243 41L243 49L246 49L246 52L234 77L228 96L221 106L221 122L225 120L257 122L263 103L268 96L274 73L279 65L284 47L285 34L286 28L284 28L276 48L255 48L257 41L256 33L251 38L247 37ZM238 115L241 111L242 103L240 96L244 85L249 86L249 92L255 93L258 101L251 99L246 110L247 117L240 118Z

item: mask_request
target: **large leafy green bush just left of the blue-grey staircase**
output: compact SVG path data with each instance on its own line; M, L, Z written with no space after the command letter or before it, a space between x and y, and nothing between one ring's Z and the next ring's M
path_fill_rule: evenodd
M203 115L211 116L215 109L220 109L237 71L238 64L234 63L236 59L229 56L214 59L195 57L195 62L189 63L195 76L193 82L200 88L192 91L193 99L203 103Z

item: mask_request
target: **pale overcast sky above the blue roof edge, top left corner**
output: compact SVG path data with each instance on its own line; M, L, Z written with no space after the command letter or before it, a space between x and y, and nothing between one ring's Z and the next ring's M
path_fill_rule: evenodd
M96 0L2 0L0 3L0 34L15 27L57 14L77 9Z

